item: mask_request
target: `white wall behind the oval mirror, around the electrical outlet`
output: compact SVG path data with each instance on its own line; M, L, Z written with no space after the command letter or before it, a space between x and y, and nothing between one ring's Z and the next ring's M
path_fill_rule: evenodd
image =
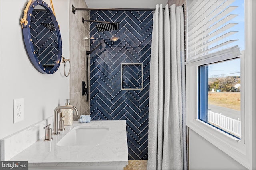
M50 6L50 1L45 1ZM0 139L53 115L69 98L63 66L54 74L34 68L23 43L20 18L27 0L0 0ZM69 0L54 0L62 56L69 58ZM24 121L13 124L13 100L24 98ZM53 125L52 125L53 126Z

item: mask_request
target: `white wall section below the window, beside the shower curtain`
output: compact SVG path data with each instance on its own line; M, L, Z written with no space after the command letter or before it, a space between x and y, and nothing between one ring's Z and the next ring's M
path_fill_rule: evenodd
M190 170L246 170L244 166L189 129Z

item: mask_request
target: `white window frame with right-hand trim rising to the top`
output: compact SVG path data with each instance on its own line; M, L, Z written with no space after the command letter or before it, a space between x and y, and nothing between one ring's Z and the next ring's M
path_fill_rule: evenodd
M196 119L198 114L197 71L198 66L203 65L203 60L192 60L190 63L186 63L186 125L188 130L192 129L234 160L252 170L256 169L256 90L254 90L256 84L256 32L254 31L256 27L254 18L256 16L256 1L245 0L244 7L245 50L244 57L241 58L241 65L244 66L244 69L241 69L241 78L244 80L241 79L241 81L246 83L242 87L244 96L241 95L241 99L244 99L241 100L244 104L241 106L241 118L242 116L244 118L241 120L241 140L230 137L227 133Z

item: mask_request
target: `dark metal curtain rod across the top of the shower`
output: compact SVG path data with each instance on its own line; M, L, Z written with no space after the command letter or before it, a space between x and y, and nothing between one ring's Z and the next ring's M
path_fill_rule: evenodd
M75 14L76 11L154 11L154 10L156 9L155 8L75 8L72 4L73 14Z

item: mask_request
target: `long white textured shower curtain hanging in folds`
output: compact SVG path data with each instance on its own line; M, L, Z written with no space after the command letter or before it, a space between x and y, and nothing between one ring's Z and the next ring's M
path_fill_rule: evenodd
M148 170L187 169L183 8L156 5L153 20Z

